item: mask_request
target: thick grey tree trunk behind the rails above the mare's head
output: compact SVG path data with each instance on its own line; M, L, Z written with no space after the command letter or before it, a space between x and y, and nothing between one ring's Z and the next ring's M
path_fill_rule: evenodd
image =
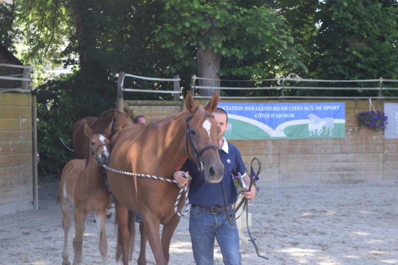
M198 48L197 58L199 77L213 79L199 80L199 86L220 87L220 76L218 75L218 71L220 70L221 56L215 54L210 49L203 50ZM212 96L215 92L218 92L218 95L220 95L220 89L199 89L199 95Z

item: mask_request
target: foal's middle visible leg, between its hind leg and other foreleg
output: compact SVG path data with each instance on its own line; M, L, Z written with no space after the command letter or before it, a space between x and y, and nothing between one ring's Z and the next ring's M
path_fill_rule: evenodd
M74 209L73 218L75 219L75 238L73 239L73 265L83 262L83 234L86 229L87 211Z

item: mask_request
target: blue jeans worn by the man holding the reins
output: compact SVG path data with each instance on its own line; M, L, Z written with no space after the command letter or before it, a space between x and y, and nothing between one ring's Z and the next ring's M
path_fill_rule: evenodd
M204 210L191 207L190 234L192 250L197 265L212 265L214 259L214 238L220 246L222 260L227 265L241 265L239 253L239 232L235 221L235 212L229 208L232 214L230 226L225 213L211 214Z

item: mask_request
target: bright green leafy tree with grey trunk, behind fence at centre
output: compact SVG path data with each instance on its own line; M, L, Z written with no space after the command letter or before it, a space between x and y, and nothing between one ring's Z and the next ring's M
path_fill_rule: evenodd
M235 0L164 2L164 22L154 31L154 39L178 59L171 72L198 66L200 77L266 78L281 75L284 67L280 66L305 68L285 18L265 4L257 7L255 1ZM201 85L219 86L219 82Z

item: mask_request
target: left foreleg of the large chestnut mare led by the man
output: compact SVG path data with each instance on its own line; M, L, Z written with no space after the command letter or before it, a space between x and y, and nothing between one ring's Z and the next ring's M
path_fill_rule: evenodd
M167 265L166 258L163 255L162 245L160 243L159 217L149 211L144 212L144 214L141 214L141 216L141 222L144 222L149 246L151 246L153 256L155 257L156 265Z

